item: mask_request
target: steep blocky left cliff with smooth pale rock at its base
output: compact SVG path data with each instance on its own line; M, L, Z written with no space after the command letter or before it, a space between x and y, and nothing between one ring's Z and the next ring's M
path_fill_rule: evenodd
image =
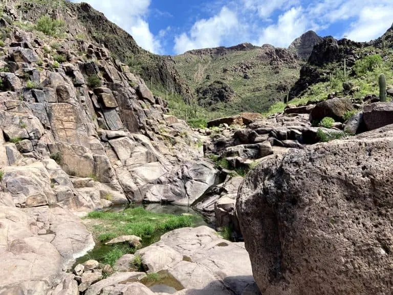
M0 21L0 293L45 294L92 248L75 214L191 204L219 175L166 101L104 45L74 35L88 28L69 9L86 6L34 7L9 1ZM45 9L73 25L54 38L17 21Z

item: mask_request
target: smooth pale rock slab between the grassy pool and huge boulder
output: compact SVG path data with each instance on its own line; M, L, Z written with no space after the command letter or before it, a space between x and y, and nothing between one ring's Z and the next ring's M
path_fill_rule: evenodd
M173 230L142 250L144 264L154 271L167 270L184 286L179 294L241 295L249 289L259 293L244 243L226 241L207 226ZM170 259L161 263L162 259L148 255L157 251L162 258L167 252Z

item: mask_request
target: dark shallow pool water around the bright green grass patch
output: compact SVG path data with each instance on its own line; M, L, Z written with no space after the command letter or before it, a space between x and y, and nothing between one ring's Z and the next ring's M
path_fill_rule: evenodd
M135 207L140 207L143 206L146 210L149 210L154 213L162 213L162 214L171 214L171 215L182 215L182 214L190 214L193 215L194 218L194 224L195 226L202 226L202 225L207 225L211 226L210 224L207 223L207 221L204 219L204 217L198 213L195 212L192 208L187 207L187 206L177 206L177 205L172 205L172 204L133 204L133 205L127 205L127 206L113 206L109 209L107 209L107 212L116 212L116 213L121 213L123 210L127 208L135 208ZM160 240L161 235L163 233L159 233L156 235L151 235L149 237L144 237L142 239L142 248L146 247L148 245L151 245L153 243L156 243ZM89 251L88 254L85 256L82 256L78 258L73 265L73 268L80 263L86 262L90 259L97 260L98 262L102 262L104 255L111 251L114 248L114 246L109 246L105 245L104 243L99 243L96 241L96 246L93 248L93 250ZM162 291L164 292L164 291ZM168 292L167 292L168 293Z

